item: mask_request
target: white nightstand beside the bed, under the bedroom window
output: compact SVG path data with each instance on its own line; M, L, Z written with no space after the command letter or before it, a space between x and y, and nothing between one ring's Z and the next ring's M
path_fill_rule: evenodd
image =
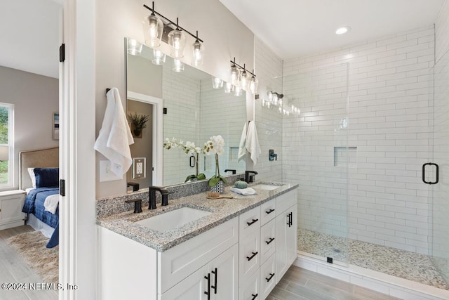
M25 224L22 213L24 190L8 190L0 193L0 230Z

